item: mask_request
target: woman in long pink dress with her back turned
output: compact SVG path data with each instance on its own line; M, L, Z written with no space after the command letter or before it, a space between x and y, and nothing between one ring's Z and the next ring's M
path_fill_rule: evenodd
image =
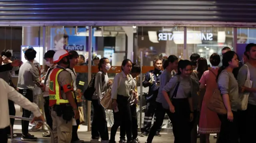
M210 63L212 64L212 68L205 71L200 79L200 89L205 91L205 94L200 112L198 132L200 135L205 135L205 143L210 143L210 133L217 133L218 135L221 123L217 113L208 109L208 102L211 99L212 91L218 86L216 83L216 76L219 70L218 65L220 64L220 56L213 53L210 56Z

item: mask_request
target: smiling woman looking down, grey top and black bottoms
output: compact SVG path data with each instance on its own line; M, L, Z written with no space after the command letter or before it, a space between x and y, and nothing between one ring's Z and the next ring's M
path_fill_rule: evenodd
M162 89L166 104L162 104L172 121L174 143L190 143L190 122L193 120L191 91L193 87L190 75L192 63L180 60L178 73Z

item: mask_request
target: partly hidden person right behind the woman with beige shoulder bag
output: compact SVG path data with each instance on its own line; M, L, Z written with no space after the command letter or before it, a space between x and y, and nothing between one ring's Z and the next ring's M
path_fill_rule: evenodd
M136 89L137 79L136 78L140 74L140 71L141 71L140 66L133 63L132 71L130 74L132 75L132 78L133 78L132 90L134 90L135 92L137 92L137 89ZM138 103L138 96L136 98L131 95L130 110L131 110L131 114L132 114L132 140L134 141L134 143L140 143L139 139L137 138L138 137L137 103ZM120 141L119 141L119 143L126 143L125 135L126 135L126 132L125 132L125 123L124 123L124 124L120 125Z

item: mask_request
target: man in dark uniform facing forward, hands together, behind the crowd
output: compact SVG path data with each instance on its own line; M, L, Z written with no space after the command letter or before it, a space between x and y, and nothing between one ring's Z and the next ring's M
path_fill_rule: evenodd
M149 87L148 95L146 96L147 108L144 116L144 127L141 129L142 137L148 135L151 127L152 117L154 116L154 112L156 110L156 97L160 85L160 75L162 74L162 60L154 59L153 65L155 69L147 72L144 81L142 82L144 87ZM159 133L160 130L161 127L159 127L156 132L157 136L161 136Z

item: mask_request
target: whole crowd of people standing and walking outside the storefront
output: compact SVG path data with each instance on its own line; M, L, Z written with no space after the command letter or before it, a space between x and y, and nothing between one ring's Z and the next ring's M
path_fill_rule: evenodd
M43 136L51 137L58 143L83 143L77 135L81 121L78 107L81 106L82 96L87 94L86 88L93 87L91 101L94 112L90 142L116 143L116 132L120 127L119 143L140 143L136 114L136 86L141 72L139 65L125 59L121 65L122 71L116 74L112 82L108 78L111 69L109 59L96 58L94 60L98 62L96 66L99 72L92 78L94 85L88 85L86 75L74 71L74 66L86 65L84 56L78 55L76 51L47 51L44 59L49 68L42 77L40 66L35 61L36 51L30 47L24 51L24 55L27 62L22 64L10 60L10 51L1 53L0 62L3 65L0 66L0 88L4 91L1 99L6 100L6 104L1 104L1 109L8 106L9 115L15 115L15 102L22 106L22 117L44 121L36 106L38 92L35 93L35 87L38 87L44 92L45 118L53 133L51 135L47 131ZM198 137L200 143L210 143L212 133L217 134L217 143L256 142L256 44L246 46L242 62L234 51L224 47L222 55L213 53L210 56L210 64L209 69L207 60L196 53L190 56L190 60L178 60L175 55L170 55L164 61L154 59L154 70L146 73L142 84L149 87L144 123L140 129L140 136L148 136L146 143L152 143L154 136L161 136L166 114L172 122L174 143L197 143ZM16 70L19 70L17 86L11 80L11 72ZM247 81L250 81L250 87ZM114 114L110 137L105 108L101 103L109 89ZM214 89L220 91L226 114L208 108ZM241 99L245 95L249 95L247 106L241 108ZM6 113L0 114L6 117L0 118L0 138L4 139L1 140L3 143L7 143L9 124L14 125L14 119L9 119ZM36 128L41 126L40 123L34 125ZM36 141L37 138L28 133L29 127L29 121L22 120L22 141Z

